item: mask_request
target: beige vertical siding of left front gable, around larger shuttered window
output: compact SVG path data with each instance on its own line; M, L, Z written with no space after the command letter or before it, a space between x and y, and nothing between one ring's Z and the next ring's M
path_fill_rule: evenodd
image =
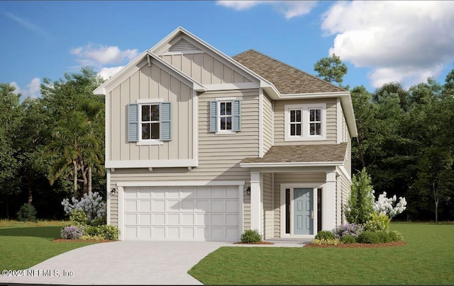
M192 159L192 88L152 64L123 81L111 91L109 105L109 159ZM162 145L138 146L127 142L127 105L138 99L160 98L172 103L172 140Z

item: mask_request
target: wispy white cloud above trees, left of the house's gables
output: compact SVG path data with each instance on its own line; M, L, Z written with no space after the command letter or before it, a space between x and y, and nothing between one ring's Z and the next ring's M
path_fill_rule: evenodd
M116 46L93 46L75 47L70 50L72 55L77 56L77 61L82 65L99 67L105 64L121 64L125 60L131 61L138 56L138 50L120 50Z

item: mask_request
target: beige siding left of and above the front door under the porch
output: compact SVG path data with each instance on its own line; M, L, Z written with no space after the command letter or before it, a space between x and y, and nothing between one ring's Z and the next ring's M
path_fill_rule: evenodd
M280 205L281 202L281 184L284 183L324 183L326 181L326 173L275 173L275 237L281 236Z

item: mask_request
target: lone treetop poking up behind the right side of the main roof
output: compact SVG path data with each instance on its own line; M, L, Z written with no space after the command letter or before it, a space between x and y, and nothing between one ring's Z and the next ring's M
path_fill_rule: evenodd
M322 57L316 64L314 70L319 74L318 76L325 81L336 81L339 85L342 84L343 76L347 74L348 68L341 61L340 57L333 54L331 57Z

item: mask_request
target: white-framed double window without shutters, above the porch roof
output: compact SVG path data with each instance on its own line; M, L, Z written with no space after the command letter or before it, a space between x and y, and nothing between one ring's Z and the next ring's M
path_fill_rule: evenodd
M326 140L326 103L285 105L285 141Z

